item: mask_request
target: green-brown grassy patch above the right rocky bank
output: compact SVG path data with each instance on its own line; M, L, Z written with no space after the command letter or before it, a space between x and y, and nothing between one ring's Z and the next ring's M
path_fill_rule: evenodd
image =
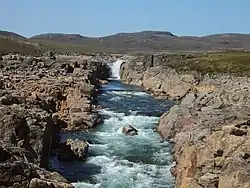
M250 77L250 52L225 51L195 55L169 55L166 65L180 72L197 71L204 74L230 74Z

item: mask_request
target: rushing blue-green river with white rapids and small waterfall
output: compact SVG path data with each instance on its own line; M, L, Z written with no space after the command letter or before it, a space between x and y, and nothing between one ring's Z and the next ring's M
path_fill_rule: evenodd
M117 62L117 64L121 62ZM120 68L114 64L113 69ZM119 71L98 96L104 123L90 132L64 133L63 138L89 140L84 162L53 161L53 166L77 188L172 188L171 145L156 132L159 116L173 105L154 99L138 87L122 84ZM138 135L127 136L132 125Z

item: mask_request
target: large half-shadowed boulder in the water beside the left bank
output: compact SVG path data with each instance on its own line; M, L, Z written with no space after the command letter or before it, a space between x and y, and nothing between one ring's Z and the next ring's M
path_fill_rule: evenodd
M89 145L78 139L67 139L62 143L58 152L58 159L62 161L84 160L88 154Z

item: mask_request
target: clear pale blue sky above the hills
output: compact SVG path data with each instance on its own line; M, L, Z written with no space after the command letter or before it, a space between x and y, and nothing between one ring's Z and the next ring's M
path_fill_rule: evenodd
M24 36L250 33L250 0L2 0L0 29Z

